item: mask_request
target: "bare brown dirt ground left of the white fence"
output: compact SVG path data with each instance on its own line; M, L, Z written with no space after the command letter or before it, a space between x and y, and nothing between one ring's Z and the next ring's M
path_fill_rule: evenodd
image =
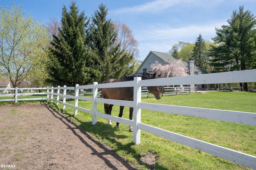
M134 170L47 103L0 106L0 170Z

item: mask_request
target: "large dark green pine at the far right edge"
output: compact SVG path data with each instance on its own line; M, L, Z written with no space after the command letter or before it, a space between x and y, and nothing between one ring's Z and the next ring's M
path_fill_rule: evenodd
M227 21L229 25L216 28L213 38L219 44L213 48L215 65L228 66L230 71L256 68L256 17L240 6ZM244 90L248 90L247 83Z

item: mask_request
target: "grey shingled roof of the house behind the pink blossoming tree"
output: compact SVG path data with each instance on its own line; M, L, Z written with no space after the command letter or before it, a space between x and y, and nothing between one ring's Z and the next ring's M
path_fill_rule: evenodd
M157 57L159 57L159 59L161 59L162 61L166 62L166 63L173 63L174 61L178 61L178 59L175 59L174 57L172 57L171 55L167 54L167 53L162 53L162 52L156 52L156 51L150 51L146 57L146 59L150 56L150 54L153 53L154 55L156 55ZM145 60L146 60L145 59ZM144 61L145 61L144 60ZM144 62L143 61L143 62ZM143 64L142 62L142 64ZM140 66L142 66L142 64ZM154 64L154 63L153 63ZM183 64L185 66L188 66L187 62L183 61ZM140 67L139 67L140 68ZM197 72L198 74L207 74L208 72L204 71L202 68L199 68L198 66L194 66L194 71Z

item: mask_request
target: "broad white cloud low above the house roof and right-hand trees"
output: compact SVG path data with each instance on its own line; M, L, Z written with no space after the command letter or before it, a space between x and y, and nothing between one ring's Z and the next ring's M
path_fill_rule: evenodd
M180 28L165 25L137 31L135 37L139 42L140 60L143 61L150 51L167 53L178 41L195 42L199 33L204 39L210 40L216 36L215 27L226 24L226 21L216 21L206 25L188 25Z

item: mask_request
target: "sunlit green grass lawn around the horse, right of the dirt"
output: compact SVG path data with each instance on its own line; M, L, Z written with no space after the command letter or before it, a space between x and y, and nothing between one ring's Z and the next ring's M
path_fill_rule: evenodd
M168 104L176 106L202 107L256 113L256 93L250 92L207 92L178 96L163 96L161 100L142 98L142 102ZM74 101L69 101L74 104ZM54 105L54 104L52 104ZM80 107L92 109L91 102L80 101ZM62 108L62 105L56 106ZM104 113L103 104L98 104L98 111ZM212 156L190 147L169 141L150 133L141 132L141 143L132 143L132 133L127 125L120 124L120 129L108 125L108 120L98 117L97 124L92 125L92 115L78 111L74 117L74 109L66 107L64 113L94 134L100 143L106 143L112 150L125 160L133 162L138 169L148 169L150 166L140 160L149 152L156 156L155 169L248 169L222 158ZM112 115L118 116L119 106L114 106ZM129 108L124 108L123 117L128 119ZM170 113L142 110L142 123L166 129L174 133L186 135L195 139L234 149L256 156L256 127L241 125L197 117Z

